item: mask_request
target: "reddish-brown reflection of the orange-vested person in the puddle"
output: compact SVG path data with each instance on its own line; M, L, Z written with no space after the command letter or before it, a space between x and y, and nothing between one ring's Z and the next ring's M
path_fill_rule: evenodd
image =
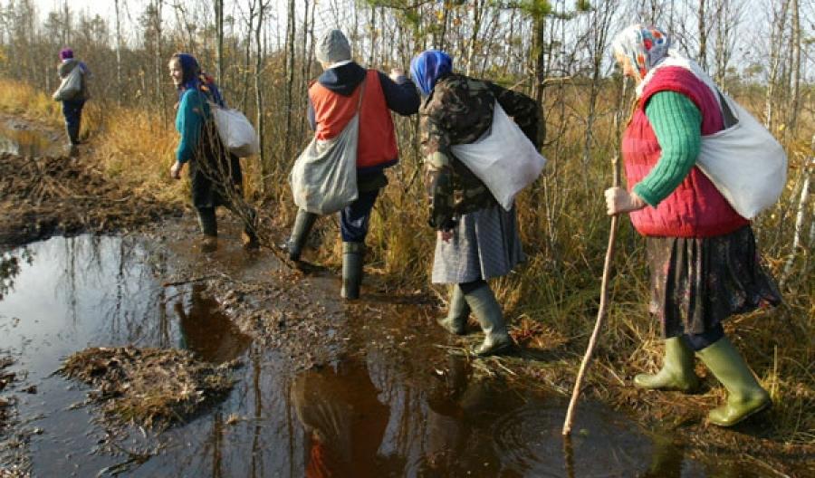
M306 430L306 476L379 476L379 445L388 407L359 363L310 370L291 388L297 417Z

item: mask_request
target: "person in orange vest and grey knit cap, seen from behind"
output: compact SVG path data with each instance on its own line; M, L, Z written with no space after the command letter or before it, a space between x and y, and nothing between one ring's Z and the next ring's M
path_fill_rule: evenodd
M360 296L362 256L368 234L370 211L379 189L388 184L385 168L398 162L396 133L390 111L402 116L417 113L419 97L413 81L401 70L390 76L366 70L351 60L350 44L340 30L322 35L316 47L324 72L309 88L309 122L317 139L331 139L345 129L360 105L360 138L357 146L359 197L340 211L342 236L342 290L346 299ZM364 82L364 90L360 84ZM317 215L297 212L292 236L285 244L289 258L299 261Z

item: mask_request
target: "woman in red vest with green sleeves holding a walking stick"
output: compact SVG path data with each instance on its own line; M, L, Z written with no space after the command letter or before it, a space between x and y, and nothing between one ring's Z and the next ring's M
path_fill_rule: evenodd
M622 140L628 191L606 190L609 215L629 213L646 237L650 311L662 325L665 359L637 387L690 392L698 386L694 352L729 392L708 414L732 426L771 405L770 395L724 336L722 321L781 302L762 270L750 222L695 166L701 139L724 129L714 91L691 60L669 50L657 28L632 25L613 43L623 74L637 83L637 104Z

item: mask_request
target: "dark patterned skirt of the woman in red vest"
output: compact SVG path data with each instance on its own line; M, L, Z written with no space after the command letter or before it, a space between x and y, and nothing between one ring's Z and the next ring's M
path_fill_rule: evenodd
M665 339L711 330L733 314L778 305L750 225L714 237L647 237L649 310Z

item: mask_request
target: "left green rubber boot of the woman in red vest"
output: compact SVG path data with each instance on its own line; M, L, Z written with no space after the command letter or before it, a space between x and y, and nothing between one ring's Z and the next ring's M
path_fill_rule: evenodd
M665 340L665 358L662 369L656 374L639 374L634 385L652 390L678 390L692 392L699 387L699 378L694 372L694 351L681 337Z

